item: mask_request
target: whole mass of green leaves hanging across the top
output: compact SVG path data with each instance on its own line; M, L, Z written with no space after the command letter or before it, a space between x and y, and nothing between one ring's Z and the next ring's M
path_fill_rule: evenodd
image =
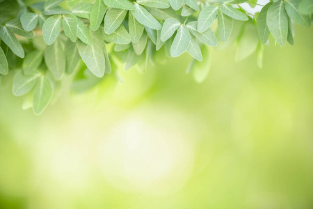
M248 4L247 4L248 3ZM262 3L262 1L261 1ZM249 13L244 4L263 6ZM0 83L14 73L13 93L40 114L65 74L86 90L108 76L188 52L187 72L202 82L209 47L237 42L236 60L258 52L269 36L293 45L293 24L310 26L313 1L271 0L0 0Z

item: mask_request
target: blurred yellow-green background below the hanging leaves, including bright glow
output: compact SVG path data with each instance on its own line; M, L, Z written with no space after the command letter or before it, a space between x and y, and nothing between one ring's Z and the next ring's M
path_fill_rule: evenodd
M67 86L41 115L0 91L0 208L313 208L313 28L235 63L210 50Z

